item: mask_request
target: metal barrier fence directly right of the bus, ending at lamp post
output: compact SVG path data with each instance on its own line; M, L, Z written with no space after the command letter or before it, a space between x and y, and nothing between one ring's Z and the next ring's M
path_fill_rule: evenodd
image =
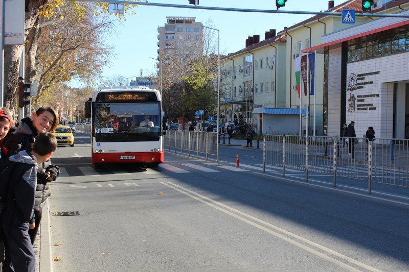
M191 156L195 153L217 156L217 133L203 131L178 131L168 130L164 136L164 144L168 146L168 151Z

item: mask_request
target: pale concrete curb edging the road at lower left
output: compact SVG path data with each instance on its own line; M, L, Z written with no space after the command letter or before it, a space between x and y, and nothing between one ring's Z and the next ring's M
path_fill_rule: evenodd
M50 232L50 203L49 199L42 208L41 230L40 230L40 267L39 271L53 271L53 259L51 248L51 232Z

